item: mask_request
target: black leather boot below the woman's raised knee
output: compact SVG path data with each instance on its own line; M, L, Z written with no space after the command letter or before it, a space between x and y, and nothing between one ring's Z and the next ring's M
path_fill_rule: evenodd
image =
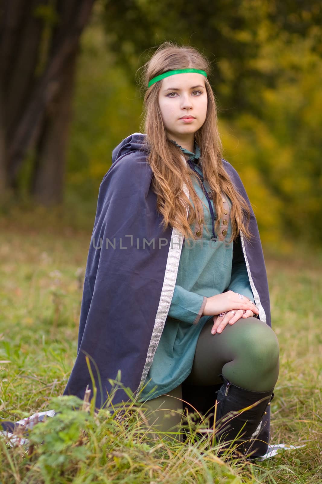
M234 446L238 454L253 453L256 451L256 438L252 438L252 435L262 417L265 416L266 407L273 399L273 390L252 392L233 385L223 375L221 378L223 384L217 394L215 429L217 442L228 443L235 440ZM224 445L223 452L220 454L224 453L225 447Z

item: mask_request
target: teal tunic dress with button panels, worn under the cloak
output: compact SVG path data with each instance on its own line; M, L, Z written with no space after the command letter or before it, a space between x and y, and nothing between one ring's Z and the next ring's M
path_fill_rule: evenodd
M194 162L196 171L202 174L201 166L197 163L200 156L199 147L195 144L196 154L180 148ZM191 241L193 243L190 246L186 241L183 243L168 317L144 388L139 395L139 402L168 393L189 376L199 334L206 322L212 318L201 316L207 297L233 290L254 302L242 249L239 244L229 242L230 200L228 197L223 198L227 215L221 220L220 233L217 242L214 242L211 240L212 216L207 197L194 179L193 184L196 194L205 205L204 225L207 226L209 233L205 227L202 228L202 224L201 227L191 227L197 240ZM204 186L207 192L210 192L210 185L206 180ZM211 203L215 213L213 201ZM202 234L198 231L200 228ZM209 336L211 337L211 334Z

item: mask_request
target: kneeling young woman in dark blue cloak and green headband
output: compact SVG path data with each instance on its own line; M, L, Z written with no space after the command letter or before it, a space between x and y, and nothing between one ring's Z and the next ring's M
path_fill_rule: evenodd
M84 397L91 362L98 407L128 400L112 391L120 370L163 430L178 428L180 413L166 414L182 396L202 412L217 400L217 420L251 406L221 437L242 434L240 451L261 455L279 345L256 220L222 158L209 67L169 43L145 65L145 134L113 150L100 185L65 394Z

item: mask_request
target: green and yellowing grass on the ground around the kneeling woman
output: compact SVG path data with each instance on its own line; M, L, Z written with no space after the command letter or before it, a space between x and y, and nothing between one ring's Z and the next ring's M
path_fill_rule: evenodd
M280 341L271 443L305 447L229 464L195 432L184 444L162 435L149 440L135 402L125 425L112 408L96 414L83 402L57 398L76 356L90 231L50 228L45 218L19 227L2 220L0 227L0 416L61 412L35 427L29 454L0 440L0 483L321 484L321 257L267 261Z

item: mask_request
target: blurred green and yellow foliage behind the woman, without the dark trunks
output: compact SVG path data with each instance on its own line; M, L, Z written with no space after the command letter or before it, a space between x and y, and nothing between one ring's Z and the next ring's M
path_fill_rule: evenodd
M59 21L55 2L40 4L42 69ZM322 241L322 6L277 0L100 0L81 39L65 201L46 220L93 227L99 184L112 150L140 131L140 67L164 40L199 48L212 63L224 157L250 196L261 239L288 253ZM20 199L0 207L37 227L30 204L34 153L20 173ZM17 203L19 207L17 207ZM32 216L34 214L33 220Z

